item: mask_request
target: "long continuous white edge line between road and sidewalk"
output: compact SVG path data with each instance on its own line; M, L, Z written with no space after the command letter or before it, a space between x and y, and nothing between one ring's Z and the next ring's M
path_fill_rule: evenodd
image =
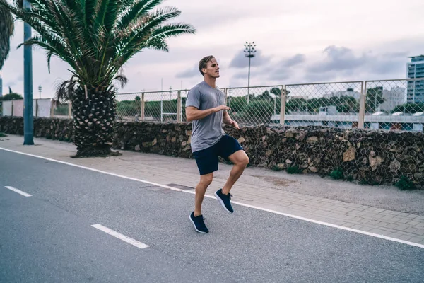
M45 159L45 160L48 160L48 161L66 164L66 165L69 165L69 166L75 166L75 167L78 167L78 168L83 168L83 169L86 169L86 170L95 171L95 172L98 172L98 173L112 175L112 176L124 178L124 179L127 179L127 180L134 180L134 181L141 182L141 183L148 183L148 184L155 185L155 186L158 186L158 187L164 187L166 189L175 190L177 192L186 192L186 193L189 193L189 194L192 194L192 195L194 195L196 193L194 191L181 190L181 189L178 189L176 187L170 187L170 186L167 186L167 185L152 183L152 182L149 182L149 181L146 181L146 180L141 180L141 179L137 179L137 178L127 177L127 176L124 176L124 175L118 175L118 174L115 174L115 173L105 172L105 171L101 171L101 170L98 170L98 169L95 169L95 168L81 166L81 165L77 165L77 164L73 164L73 163L69 163L69 162L65 162L65 161L59 161L59 160L55 160L55 159L52 159L52 158L37 156L37 155L34 155L34 154L26 154L25 152L13 151L11 149L4 149L2 147L0 147L0 149L4 150L4 151L10 151L10 152L13 152L13 153L16 153L16 154L23 154L23 155L26 155L26 156L32 156L32 157L36 157L36 158ZM212 195L205 195L205 197L215 199L215 197L212 196ZM302 217L302 216L296 216L296 215L293 215L293 214L276 212L275 210L266 209L266 208L263 208L263 207L254 207L253 205L244 204L244 203L241 203L241 202L231 202L231 203L241 205L242 207L249 207L249 208L252 208L252 209L262 210L264 212L271 212L273 214L279 214L279 215L287 216L287 217L290 217L290 218L295 218L295 219L300 219L300 220L303 220L303 221L312 222L314 224L320 224L320 225L329 226L329 227L336 228L336 229L351 231L351 232L355 232L355 233L361 233L363 235L372 236L372 237L375 237L375 238L382 238L382 239L388 240L388 241L404 243L404 244L409 245L409 246L416 246L418 248L424 248L423 244L404 241L404 240L401 240L401 239L398 239L398 238L391 238L391 237L379 235L379 234L376 234L376 233L370 233L370 232L366 232L366 231L360 231L360 230L357 230L357 229L351 229L351 228L348 228L348 227L343 227L343 226L339 226L339 225L335 225L335 224L331 224L331 223L326 223L326 222L323 222L323 221L317 221L317 220L314 220L314 219L309 219L309 218L305 218L305 217Z

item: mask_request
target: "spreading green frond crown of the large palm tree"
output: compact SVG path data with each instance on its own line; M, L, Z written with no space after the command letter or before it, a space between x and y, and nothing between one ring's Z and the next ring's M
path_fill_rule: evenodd
M167 38L195 32L191 25L167 24L181 11L157 9L163 0L28 0L30 8L8 1L0 0L0 8L37 33L23 44L46 51L49 71L53 56L71 67L72 78L57 88L59 98L69 98L77 85L104 89L117 80L124 87L119 71L134 54L168 51Z

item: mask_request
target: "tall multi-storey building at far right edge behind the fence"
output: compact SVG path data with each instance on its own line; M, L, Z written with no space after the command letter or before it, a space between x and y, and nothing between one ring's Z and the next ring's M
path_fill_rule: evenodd
M424 55L410 57L411 62L406 65L408 79L424 78ZM407 103L424 103L423 81L408 81Z

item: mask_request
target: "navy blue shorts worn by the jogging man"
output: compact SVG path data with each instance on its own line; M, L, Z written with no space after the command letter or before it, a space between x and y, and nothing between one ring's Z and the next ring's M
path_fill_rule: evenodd
M225 134L213 146L194 151L193 156L196 159L200 175L206 175L218 170L218 156L228 160L228 156L240 150L243 150L243 148L237 139Z

